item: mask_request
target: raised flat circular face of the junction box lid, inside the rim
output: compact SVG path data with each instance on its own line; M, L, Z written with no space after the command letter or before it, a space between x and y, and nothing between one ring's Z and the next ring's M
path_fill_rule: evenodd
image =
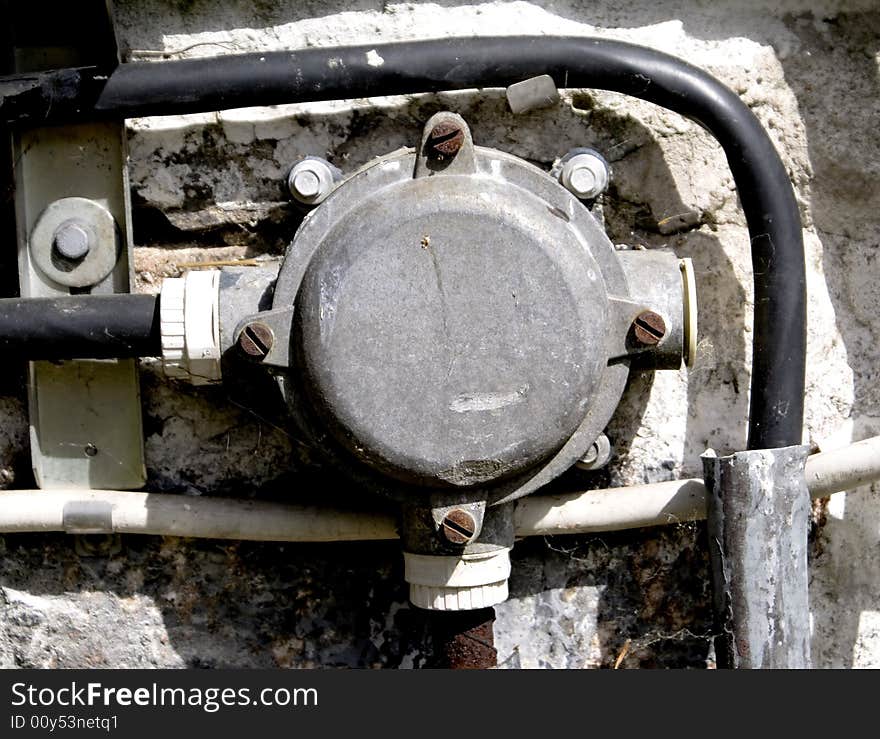
M359 459L474 486L577 430L606 313L601 272L558 208L500 178L405 178L326 230L292 341L311 405Z

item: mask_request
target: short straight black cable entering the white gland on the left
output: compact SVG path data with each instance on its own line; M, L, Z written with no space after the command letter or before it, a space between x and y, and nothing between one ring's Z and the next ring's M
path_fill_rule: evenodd
M26 359L162 354L153 295L71 295L0 300L0 352Z

